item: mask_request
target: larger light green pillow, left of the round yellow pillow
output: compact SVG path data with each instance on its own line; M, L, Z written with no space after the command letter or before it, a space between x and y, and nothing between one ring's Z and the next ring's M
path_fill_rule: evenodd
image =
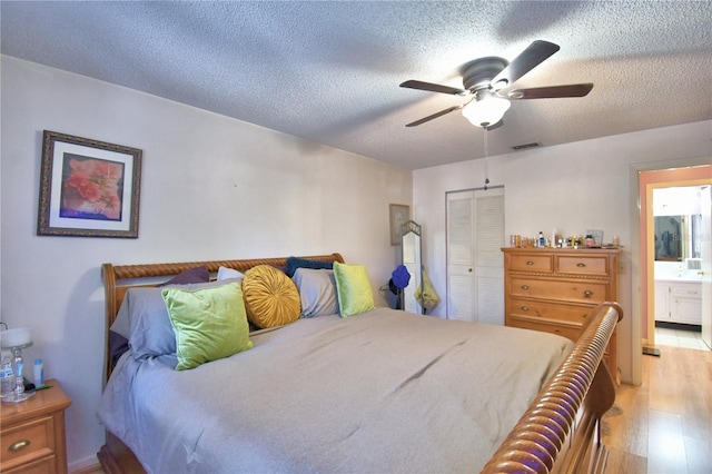
M161 295L176 333L176 371L253 347L238 284L192 290L166 288Z

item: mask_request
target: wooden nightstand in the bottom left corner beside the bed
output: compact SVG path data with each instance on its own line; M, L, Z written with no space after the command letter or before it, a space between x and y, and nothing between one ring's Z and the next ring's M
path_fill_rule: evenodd
M20 403L3 403L0 413L0 471L67 473L65 409L71 399L55 379Z

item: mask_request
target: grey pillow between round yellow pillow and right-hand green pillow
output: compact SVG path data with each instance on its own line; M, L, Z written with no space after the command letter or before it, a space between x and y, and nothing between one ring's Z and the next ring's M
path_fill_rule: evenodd
M334 270L297 268L291 279L299 289L301 317L338 314Z

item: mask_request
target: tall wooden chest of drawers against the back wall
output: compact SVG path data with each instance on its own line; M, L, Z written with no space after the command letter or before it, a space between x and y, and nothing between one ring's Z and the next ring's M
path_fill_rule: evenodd
M617 248L513 248L504 251L507 326L558 334L571 340L599 303L617 300ZM604 361L620 383L616 332Z

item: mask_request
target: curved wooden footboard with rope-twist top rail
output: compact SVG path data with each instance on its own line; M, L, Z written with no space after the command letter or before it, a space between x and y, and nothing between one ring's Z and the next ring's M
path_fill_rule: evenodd
M599 305L570 356L558 367L484 473L602 473L607 452L601 417L615 401L603 353L623 318L617 303Z

